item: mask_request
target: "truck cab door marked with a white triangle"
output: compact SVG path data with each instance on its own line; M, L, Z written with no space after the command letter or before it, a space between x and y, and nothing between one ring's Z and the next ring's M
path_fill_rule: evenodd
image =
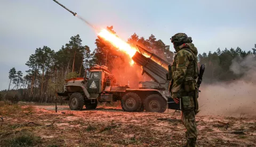
M99 93L100 88L100 72L91 72L88 80L88 92Z

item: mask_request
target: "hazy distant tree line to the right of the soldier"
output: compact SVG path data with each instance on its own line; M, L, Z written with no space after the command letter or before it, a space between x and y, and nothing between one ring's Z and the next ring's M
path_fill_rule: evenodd
M251 60L247 60L246 58L251 58ZM251 51L243 51L240 47L230 48L229 50L225 48L225 50L221 51L220 48L215 52L209 52L208 54L198 54L199 64L205 64L205 72L204 72L204 83L212 84L215 82L230 82L235 79L241 79L245 74L248 73L249 69L256 69L256 44L254 44L254 48ZM246 61L246 64L239 64L239 62ZM231 69L231 66L234 65L234 62L238 64L237 68L242 67L244 69L243 72L237 74ZM251 66L249 65L251 64ZM256 70L255 70L256 71Z

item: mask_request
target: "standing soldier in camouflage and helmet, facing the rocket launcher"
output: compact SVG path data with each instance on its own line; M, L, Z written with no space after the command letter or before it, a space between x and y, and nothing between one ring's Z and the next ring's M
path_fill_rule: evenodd
M185 146L195 146L197 128L195 115L198 113L198 77L197 48L192 44L191 37L184 33L172 36L171 42L175 48L175 56L172 64L172 80L169 92L175 103L181 99L181 120L186 128L187 142Z

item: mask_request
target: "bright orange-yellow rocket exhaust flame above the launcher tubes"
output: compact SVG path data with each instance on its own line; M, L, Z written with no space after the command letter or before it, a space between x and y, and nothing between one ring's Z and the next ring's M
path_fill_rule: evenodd
M117 47L120 51L125 52L132 58L132 56L137 52L136 48L131 47L129 44L124 42L122 39L118 38L115 34L107 31L106 29L102 29L99 34L100 37L106 39L112 45ZM132 65L134 61L131 59L130 64Z

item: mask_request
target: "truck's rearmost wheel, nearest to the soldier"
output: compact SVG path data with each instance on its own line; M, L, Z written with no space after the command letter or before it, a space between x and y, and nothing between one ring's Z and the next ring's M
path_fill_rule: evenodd
M167 102L158 94L151 94L144 101L144 108L148 112L164 112Z

